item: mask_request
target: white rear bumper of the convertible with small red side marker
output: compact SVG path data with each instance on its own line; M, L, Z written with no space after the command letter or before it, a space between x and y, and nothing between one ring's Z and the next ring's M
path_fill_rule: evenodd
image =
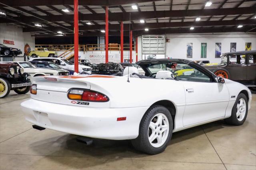
M69 134L112 140L138 136L140 120L148 107L94 108L29 99L21 103L26 120L34 125ZM126 117L126 121L117 121Z

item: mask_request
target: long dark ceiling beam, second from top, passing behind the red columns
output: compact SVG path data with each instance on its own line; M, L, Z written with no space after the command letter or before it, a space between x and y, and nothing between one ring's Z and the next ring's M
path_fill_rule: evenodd
M185 17L185 16L215 16L215 15L237 15L237 14L254 14L256 7L245 8L222 8L222 9L204 9L204 10L170 10L170 11L142 11L142 12L116 12L109 14L109 21L129 21L131 20L164 18L164 17ZM73 21L73 15L63 16L41 16L48 21ZM80 20L104 21L105 14L79 14ZM40 22L40 19L31 16L20 16L16 19L26 22ZM3 21L0 21L3 23Z

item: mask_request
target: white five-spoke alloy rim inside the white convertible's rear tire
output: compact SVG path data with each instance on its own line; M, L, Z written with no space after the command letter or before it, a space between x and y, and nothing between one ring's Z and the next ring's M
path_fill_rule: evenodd
M169 134L169 121L163 113L156 114L148 127L148 140L153 147L164 144Z

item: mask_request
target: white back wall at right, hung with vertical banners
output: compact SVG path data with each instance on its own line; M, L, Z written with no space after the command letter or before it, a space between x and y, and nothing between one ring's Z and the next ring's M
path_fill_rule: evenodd
M256 35L242 33L227 34L180 34L166 35L170 42L166 43L166 58L180 58L189 60L210 60L219 62L220 58L215 58L215 43L222 43L221 52L230 52L230 43L236 42L236 51L244 51L245 43L252 43L252 50L256 49ZM187 43L193 43L193 57L186 57ZM201 58L201 43L207 43L206 58ZM138 60L144 59L142 55L141 37L138 38Z

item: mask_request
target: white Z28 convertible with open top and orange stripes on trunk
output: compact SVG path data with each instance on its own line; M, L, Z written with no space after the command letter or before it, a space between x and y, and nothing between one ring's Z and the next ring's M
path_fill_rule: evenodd
M252 94L244 85L185 59L137 63L145 75L126 67L122 77L35 77L31 99L21 104L26 120L40 130L131 139L136 149L148 154L164 151L172 132L221 119L231 125L246 120ZM154 72L156 67L161 70ZM194 71L175 74L183 68Z

